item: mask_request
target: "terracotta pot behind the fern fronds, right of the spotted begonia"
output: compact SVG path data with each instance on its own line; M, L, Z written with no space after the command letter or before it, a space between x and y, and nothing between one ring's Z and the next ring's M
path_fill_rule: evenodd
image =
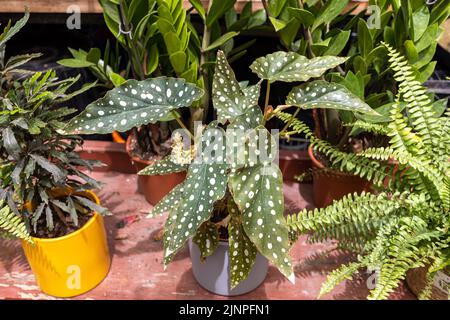
M308 148L308 154L314 168L325 169L325 166L314 156L311 146ZM314 205L324 208L349 193L369 191L370 184L369 181L360 177L334 169L316 171L313 173Z

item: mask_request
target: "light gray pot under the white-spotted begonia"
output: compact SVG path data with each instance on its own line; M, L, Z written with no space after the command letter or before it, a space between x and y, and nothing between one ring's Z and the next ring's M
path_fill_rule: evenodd
M256 289L266 278L269 268L267 259L258 253L248 278L231 290L228 247L228 242L219 242L214 254L201 262L200 249L190 239L189 251L195 279L206 290L222 296L237 296Z

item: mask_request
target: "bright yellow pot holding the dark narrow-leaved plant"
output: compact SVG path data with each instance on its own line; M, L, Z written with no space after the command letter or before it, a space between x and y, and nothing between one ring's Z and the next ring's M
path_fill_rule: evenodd
M90 191L79 195L100 204ZM103 217L94 216L79 230L53 239L22 241L25 255L41 290L56 297L73 297L96 287L111 265Z

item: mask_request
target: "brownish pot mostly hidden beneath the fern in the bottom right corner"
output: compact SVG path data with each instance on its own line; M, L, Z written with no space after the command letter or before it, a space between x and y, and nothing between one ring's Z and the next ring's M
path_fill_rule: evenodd
M426 286L427 268L411 269L406 274L406 284L418 297ZM445 269L436 272L431 288L431 300L448 300L450 294L450 270Z

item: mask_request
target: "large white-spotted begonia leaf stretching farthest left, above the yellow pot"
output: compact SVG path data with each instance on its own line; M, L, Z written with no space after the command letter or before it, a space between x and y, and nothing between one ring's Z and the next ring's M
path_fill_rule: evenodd
M202 96L202 89L184 79L129 80L88 105L65 130L79 134L124 132L168 120L172 111L189 107Z

